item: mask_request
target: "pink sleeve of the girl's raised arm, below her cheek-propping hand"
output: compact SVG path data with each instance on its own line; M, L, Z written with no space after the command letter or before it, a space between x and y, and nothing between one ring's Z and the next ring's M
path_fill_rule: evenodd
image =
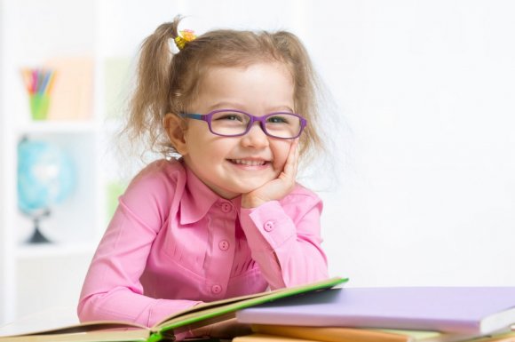
M241 211L251 255L272 289L328 278L321 249L321 199L294 194Z

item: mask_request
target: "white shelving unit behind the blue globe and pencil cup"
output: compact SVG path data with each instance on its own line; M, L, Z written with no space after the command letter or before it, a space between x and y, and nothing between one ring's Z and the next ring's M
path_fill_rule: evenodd
M104 85L99 82L104 65L99 51L103 45L98 42L102 36L96 35L98 5L85 0L0 0L0 325L56 304L74 306L106 228ZM35 40L35 36L42 38ZM92 60L91 74L87 68L74 69L92 75L91 103L89 96L75 101L71 95L79 88L62 84L58 88L56 83L54 95L60 89L60 99L74 99L70 103L77 104L77 110L60 107L59 113L65 115L33 122L20 68L36 68L60 58ZM66 65L62 70L68 73L61 73L61 80L68 76L89 90L85 78L74 77ZM74 118L67 120L67 114ZM57 145L75 164L74 192L40 222L44 235L55 243L22 243L33 229L17 206L17 147L24 137Z

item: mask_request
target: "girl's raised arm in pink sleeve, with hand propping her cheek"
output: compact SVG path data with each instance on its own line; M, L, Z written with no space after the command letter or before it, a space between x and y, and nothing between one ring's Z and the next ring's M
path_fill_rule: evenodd
M321 250L318 196L295 182L298 140L283 171L262 187L242 195L241 223L254 258L272 289L328 277Z

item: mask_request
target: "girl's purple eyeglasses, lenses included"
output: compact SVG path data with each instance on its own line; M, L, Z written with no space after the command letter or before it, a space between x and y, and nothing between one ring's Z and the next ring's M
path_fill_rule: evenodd
M300 136L307 124L304 117L289 112L256 116L237 109L217 109L205 115L181 113L180 116L205 121L211 133L222 137L245 135L250 131L252 124L259 122L261 129L269 137L295 139Z

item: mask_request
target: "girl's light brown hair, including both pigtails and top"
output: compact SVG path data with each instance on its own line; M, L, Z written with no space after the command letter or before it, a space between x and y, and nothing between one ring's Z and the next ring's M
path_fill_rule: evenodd
M324 150L319 135L318 82L311 60L297 36L287 31L217 29L188 42L178 52L170 44L178 36L181 17L164 23L143 42L138 79L123 132L141 139L164 156L178 155L163 126L164 115L185 112L198 95L202 76L212 67L246 67L257 62L284 63L294 81L295 111L307 119L300 136L300 155L311 159ZM307 158L306 158L307 157Z

